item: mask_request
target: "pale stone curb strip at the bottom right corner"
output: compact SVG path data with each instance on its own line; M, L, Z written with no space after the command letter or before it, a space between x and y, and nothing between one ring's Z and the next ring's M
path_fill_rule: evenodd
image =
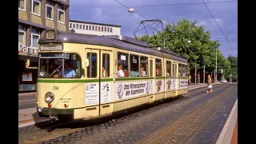
M229 118L227 118L225 125L222 128L221 134L218 136L218 140L215 144L226 144L231 142L231 138L234 132L234 126L238 118L238 99L234 103L234 106L230 112Z

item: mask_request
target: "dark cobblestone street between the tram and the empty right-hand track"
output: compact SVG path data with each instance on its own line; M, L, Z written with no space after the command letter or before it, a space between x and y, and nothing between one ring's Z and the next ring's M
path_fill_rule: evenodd
M26 126L19 129L19 143L138 143L157 133L171 123L177 122L199 106L234 85L214 86L214 93L206 94L206 88L190 90L172 102L127 114L120 118L106 119L106 122L70 123L54 129L40 129ZM49 124L49 123L48 123ZM46 124L46 125L48 125ZM54 126L54 124L52 124ZM74 131L74 132L73 132ZM54 138L55 136L61 135ZM49 140L46 140L50 138Z

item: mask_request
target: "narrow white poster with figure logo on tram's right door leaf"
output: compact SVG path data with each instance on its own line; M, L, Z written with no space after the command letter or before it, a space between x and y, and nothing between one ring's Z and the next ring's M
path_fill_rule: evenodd
M101 103L111 102L111 82L101 82Z

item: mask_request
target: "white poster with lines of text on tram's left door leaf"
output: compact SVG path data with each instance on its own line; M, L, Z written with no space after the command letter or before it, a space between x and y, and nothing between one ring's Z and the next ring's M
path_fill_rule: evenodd
M98 82L86 83L86 106L98 105Z

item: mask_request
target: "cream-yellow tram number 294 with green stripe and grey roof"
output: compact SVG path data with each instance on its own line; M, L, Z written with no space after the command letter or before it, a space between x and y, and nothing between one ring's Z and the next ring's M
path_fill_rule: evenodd
M42 117L97 118L187 93L187 62L170 50L58 30L45 30L38 43Z

